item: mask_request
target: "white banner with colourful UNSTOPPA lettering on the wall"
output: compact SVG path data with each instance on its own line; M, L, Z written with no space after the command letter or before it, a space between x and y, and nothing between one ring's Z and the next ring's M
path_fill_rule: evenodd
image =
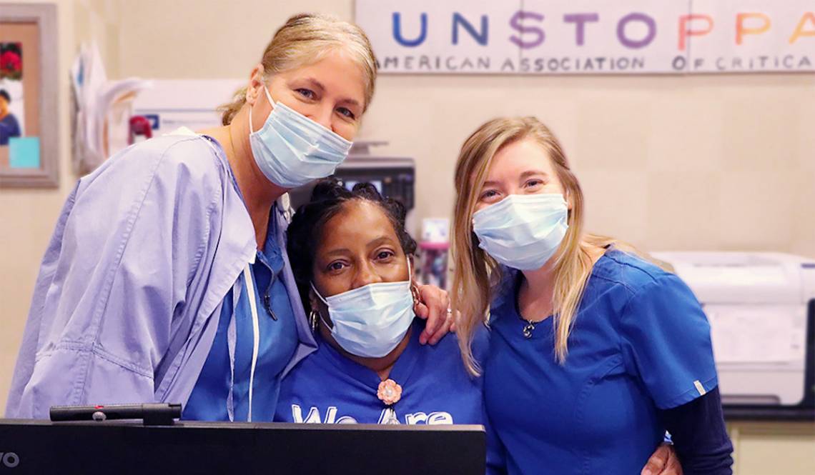
M382 73L815 71L815 0L356 0Z

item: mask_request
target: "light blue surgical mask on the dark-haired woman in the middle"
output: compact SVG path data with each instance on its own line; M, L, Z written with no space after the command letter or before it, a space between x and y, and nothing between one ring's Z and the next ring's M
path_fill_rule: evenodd
M410 260L407 261L410 275ZM333 327L331 336L343 350L365 358L381 358L402 341L416 314L410 280L377 282L323 298ZM320 315L320 319L323 316ZM328 323L323 320L326 327Z

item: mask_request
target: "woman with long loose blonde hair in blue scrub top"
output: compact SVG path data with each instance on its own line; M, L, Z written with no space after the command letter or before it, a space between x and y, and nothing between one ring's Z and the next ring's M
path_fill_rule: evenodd
M508 472L649 473L667 430L686 474L732 473L701 306L676 275L584 232L578 180L546 126L482 125L456 190L458 337L483 369ZM485 319L478 362L469 342Z

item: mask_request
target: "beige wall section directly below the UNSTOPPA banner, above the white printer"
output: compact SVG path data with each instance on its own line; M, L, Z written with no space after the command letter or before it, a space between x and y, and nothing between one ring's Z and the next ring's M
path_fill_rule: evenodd
M562 139L592 231L649 250L815 257L812 75L382 77L379 88L363 134L416 156L420 217L450 213L474 128L531 114Z

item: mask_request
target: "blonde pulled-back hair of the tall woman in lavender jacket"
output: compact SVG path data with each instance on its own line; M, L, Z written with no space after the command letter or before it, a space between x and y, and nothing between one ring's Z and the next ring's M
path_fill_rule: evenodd
M271 77L314 64L333 51L344 51L359 64L365 78L363 111L368 109L377 81L377 59L365 32L355 24L330 15L294 15L271 38L260 62L265 76ZM222 112L222 124L229 125L244 103L246 88L238 90L231 103L218 108Z

